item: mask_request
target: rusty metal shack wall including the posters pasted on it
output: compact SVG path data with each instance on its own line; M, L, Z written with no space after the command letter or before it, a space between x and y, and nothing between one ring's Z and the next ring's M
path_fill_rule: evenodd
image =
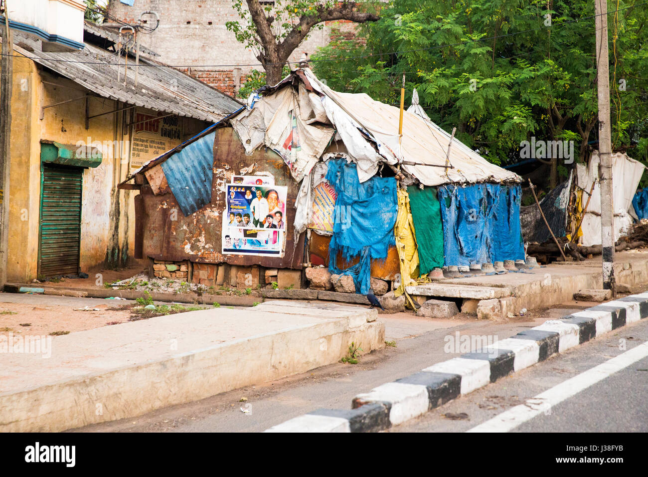
M137 220L141 223L143 256L301 269L305 262L305 234L295 243L293 230L298 188L299 184L277 153L261 149L246 156L233 128L217 128L209 204L185 216L170 190L154 195L150 185L142 187ZM257 208L255 204L253 212L252 201L257 198L257 189L268 205L268 214L261 214L265 212L264 203L257 217L265 215L266 221L257 220L255 225L253 215ZM232 192L236 200L227 201ZM234 226L238 223L230 223L228 208L238 211L234 219L240 213L240 221L244 214L249 214L251 225ZM277 211L281 212L279 222ZM272 215L272 225L267 215Z

